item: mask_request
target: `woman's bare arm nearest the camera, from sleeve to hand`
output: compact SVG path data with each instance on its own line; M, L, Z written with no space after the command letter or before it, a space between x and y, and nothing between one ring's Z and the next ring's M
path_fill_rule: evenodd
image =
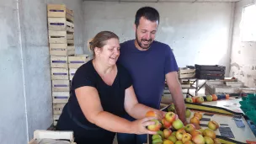
M124 132L124 133L151 133L155 132L147 131L145 126L152 125L153 118L137 120L131 122L104 111L101 106L99 94L96 88L84 86L75 90L77 95L77 101L83 111L83 115L87 120L99 127L102 127L108 131ZM142 125L141 127L139 125Z

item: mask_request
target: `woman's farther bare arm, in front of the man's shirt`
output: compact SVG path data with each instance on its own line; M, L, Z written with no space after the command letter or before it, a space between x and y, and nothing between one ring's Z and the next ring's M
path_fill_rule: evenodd
M149 110L155 111L156 114L160 116L160 119L162 119L162 116L164 115L161 110L153 109L144 104L139 104L132 86L125 89L125 110L135 119L145 118L147 111Z

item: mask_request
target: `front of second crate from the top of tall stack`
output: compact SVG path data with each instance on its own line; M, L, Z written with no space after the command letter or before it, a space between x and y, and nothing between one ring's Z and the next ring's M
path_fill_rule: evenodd
M65 18L48 18L48 29L67 31L67 20Z

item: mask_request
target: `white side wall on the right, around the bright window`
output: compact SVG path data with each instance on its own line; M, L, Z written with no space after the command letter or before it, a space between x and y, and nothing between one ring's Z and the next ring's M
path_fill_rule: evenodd
M230 75L243 81L246 86L256 87L256 41L242 42L240 26L243 7L256 3L255 0L242 0L236 3L235 21L232 36L232 61Z

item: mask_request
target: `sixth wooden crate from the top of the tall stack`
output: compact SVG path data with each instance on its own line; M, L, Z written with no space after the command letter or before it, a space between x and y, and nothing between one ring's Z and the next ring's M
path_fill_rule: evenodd
M51 79L68 79L67 68L51 68Z

